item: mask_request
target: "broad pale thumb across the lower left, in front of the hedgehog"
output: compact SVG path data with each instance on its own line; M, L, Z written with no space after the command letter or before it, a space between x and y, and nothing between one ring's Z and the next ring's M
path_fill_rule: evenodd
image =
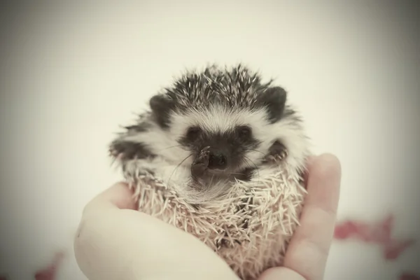
M200 240L139 211L119 209L114 199L99 195L80 222L74 251L88 279L237 279Z

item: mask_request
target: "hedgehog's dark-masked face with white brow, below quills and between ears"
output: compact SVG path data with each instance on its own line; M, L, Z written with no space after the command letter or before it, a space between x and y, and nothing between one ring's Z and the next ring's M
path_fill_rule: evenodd
M210 173L230 174L255 165L255 153L262 144L258 124L267 122L262 112L238 111L222 106L190 110L172 115L171 131L195 161L207 151ZM250 158L251 156L251 158Z

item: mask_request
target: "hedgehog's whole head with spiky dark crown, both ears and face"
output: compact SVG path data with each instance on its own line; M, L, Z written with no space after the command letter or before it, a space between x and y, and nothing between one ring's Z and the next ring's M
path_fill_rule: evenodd
M286 91L244 68L207 69L177 80L150 106L155 123L189 153L183 165L202 160L211 174L232 174L257 168L278 140L272 128L284 115Z

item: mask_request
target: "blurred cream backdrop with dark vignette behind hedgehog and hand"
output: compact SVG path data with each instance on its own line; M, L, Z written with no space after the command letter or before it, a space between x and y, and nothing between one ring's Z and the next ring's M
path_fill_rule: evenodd
M118 125L209 62L244 62L286 87L314 151L342 161L340 219L393 213L395 235L420 236L419 9L409 5L3 4L0 273L32 279L57 249L72 253L83 206L121 178L107 155ZM325 279L396 280L418 252L386 262L379 247L336 242ZM57 276L84 279L71 254Z

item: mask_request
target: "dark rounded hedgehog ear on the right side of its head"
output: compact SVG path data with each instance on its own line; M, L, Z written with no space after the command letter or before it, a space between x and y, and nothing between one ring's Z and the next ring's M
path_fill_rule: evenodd
M286 97L287 92L283 87L269 87L262 93L260 100L262 106L267 109L268 119L271 123L276 123L283 116Z

